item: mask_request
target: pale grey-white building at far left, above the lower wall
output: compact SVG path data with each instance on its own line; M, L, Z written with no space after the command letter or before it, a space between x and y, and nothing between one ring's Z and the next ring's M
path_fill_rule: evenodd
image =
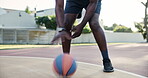
M24 11L0 8L0 28L37 28L35 18Z

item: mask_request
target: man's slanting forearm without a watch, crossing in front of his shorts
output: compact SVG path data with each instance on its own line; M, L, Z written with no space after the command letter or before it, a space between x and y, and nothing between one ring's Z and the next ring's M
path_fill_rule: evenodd
M96 7L97 7L97 2L98 0L89 0L90 3L86 9L86 14L82 20L82 22L80 23L80 26L82 26L82 28L86 25L86 23L90 20L90 18L93 16Z

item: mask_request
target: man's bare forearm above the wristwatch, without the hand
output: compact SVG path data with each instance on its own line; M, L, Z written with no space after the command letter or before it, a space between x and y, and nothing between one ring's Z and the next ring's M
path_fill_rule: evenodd
M58 27L64 27L64 0L56 0L55 13Z

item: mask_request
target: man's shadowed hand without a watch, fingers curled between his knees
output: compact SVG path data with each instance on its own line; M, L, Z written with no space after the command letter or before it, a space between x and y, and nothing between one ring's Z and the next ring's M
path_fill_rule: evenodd
M74 27L72 31L74 34L72 35L72 38L79 37L82 33L83 27L79 24L78 26Z

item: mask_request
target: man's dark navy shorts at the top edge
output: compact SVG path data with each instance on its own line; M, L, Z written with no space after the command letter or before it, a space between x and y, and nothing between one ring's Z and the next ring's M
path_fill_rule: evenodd
M89 4L89 0L67 0L65 6L65 14L73 13L73 14L81 14L83 8L87 8ZM100 14L101 10L101 0L98 0L97 8L95 13Z

